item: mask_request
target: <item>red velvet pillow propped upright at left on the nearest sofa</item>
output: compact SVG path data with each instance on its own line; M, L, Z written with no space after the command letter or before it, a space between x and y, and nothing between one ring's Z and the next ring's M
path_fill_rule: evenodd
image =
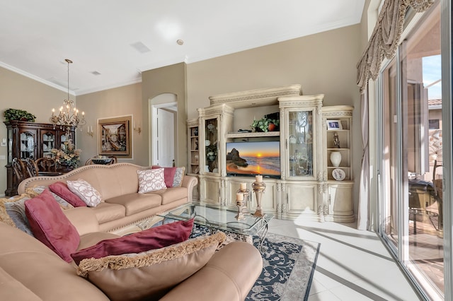
M79 247L80 236L52 193L45 189L39 196L25 201L25 215L33 235L62 259L71 262L71 253Z

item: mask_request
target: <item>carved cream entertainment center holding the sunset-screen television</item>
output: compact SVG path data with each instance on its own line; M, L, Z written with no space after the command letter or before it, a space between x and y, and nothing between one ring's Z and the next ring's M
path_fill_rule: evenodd
M200 202L235 207L241 183L251 190L263 175L265 213L353 222L353 107L323 107L323 97L302 95L301 85L211 96L188 120L189 174L199 178ZM263 115L279 116L280 131L243 130ZM256 208L253 194L246 206Z

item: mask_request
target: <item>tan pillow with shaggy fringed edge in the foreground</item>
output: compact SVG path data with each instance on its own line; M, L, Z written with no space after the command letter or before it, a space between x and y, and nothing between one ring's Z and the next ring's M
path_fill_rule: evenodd
M224 240L224 232L217 232L147 252L84 259L77 274L110 300L159 300L205 266Z

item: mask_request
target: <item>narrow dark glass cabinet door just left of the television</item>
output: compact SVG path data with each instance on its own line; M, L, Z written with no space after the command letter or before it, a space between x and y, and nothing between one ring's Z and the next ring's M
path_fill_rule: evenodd
M205 172L219 172L217 119L205 120Z

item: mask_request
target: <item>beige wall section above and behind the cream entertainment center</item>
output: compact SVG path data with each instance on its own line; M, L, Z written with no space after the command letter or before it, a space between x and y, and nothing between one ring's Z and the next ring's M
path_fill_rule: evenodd
M211 95L293 83L301 84L305 95L323 93L324 106L352 105L357 213L362 138L355 66L362 52L361 37L361 26L357 24L188 64L188 118L197 117L197 107L210 105ZM260 117L260 112L256 112L256 117ZM235 129L251 124L253 114L248 119L235 125Z

